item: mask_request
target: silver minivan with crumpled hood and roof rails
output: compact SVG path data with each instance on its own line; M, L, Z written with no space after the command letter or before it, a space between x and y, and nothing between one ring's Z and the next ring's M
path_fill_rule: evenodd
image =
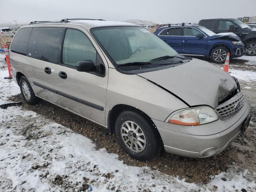
M47 100L115 133L130 156L222 152L250 122L236 78L179 55L134 24L89 19L32 22L10 46L24 100Z

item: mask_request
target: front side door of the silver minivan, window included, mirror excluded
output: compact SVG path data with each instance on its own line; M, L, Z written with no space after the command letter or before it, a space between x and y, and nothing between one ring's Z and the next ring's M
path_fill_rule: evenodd
M67 28L64 35L62 64L57 68L58 95L67 110L105 125L107 63L88 38L90 34L78 28ZM76 63L82 60L92 61L94 72L77 71Z

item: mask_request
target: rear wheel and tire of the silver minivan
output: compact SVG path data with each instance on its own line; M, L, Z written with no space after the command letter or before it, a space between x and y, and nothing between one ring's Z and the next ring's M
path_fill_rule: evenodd
M34 91L32 90L32 87L25 76L20 78L19 85L22 97L28 104L35 105L40 102L40 99L35 96Z

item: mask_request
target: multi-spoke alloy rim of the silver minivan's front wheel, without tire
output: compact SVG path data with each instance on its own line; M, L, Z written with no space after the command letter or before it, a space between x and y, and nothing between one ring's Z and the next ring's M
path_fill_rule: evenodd
M121 137L126 145L132 152L140 153L146 147L146 137L144 132L132 121L125 121L121 126Z

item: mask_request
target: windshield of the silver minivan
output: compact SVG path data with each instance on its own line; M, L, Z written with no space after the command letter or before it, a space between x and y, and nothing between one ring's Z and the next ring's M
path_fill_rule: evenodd
M92 35L115 64L150 62L178 53L150 31L137 26L91 29Z

